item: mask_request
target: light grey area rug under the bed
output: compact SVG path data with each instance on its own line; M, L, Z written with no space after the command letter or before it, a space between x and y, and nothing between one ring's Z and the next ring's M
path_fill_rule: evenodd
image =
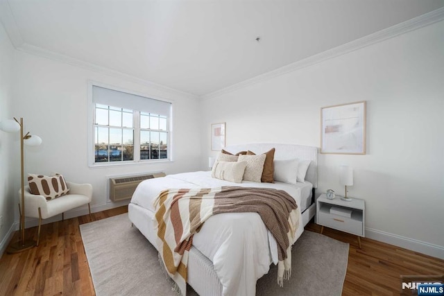
M80 225L96 295L171 295L157 250L131 227L128 214ZM281 288L278 268L257 281L257 295L341 295L348 244L305 231L292 250L291 279ZM197 295L191 287L187 295Z

